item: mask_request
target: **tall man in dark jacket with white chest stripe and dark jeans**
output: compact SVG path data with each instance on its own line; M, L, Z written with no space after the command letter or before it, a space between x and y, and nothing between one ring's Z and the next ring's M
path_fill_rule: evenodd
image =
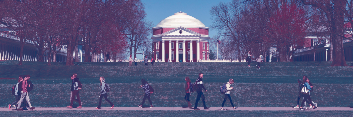
M203 86L202 78L203 78L203 73L199 73L199 77L196 80L196 82L197 82L197 98L196 98L195 107L194 107L195 110L200 110L199 108L197 108L197 104L198 104L198 101L200 100L200 98L202 98L203 108L209 109L209 107L206 106L205 96L203 95L203 92L202 92L203 89L205 91L207 91L207 89Z

